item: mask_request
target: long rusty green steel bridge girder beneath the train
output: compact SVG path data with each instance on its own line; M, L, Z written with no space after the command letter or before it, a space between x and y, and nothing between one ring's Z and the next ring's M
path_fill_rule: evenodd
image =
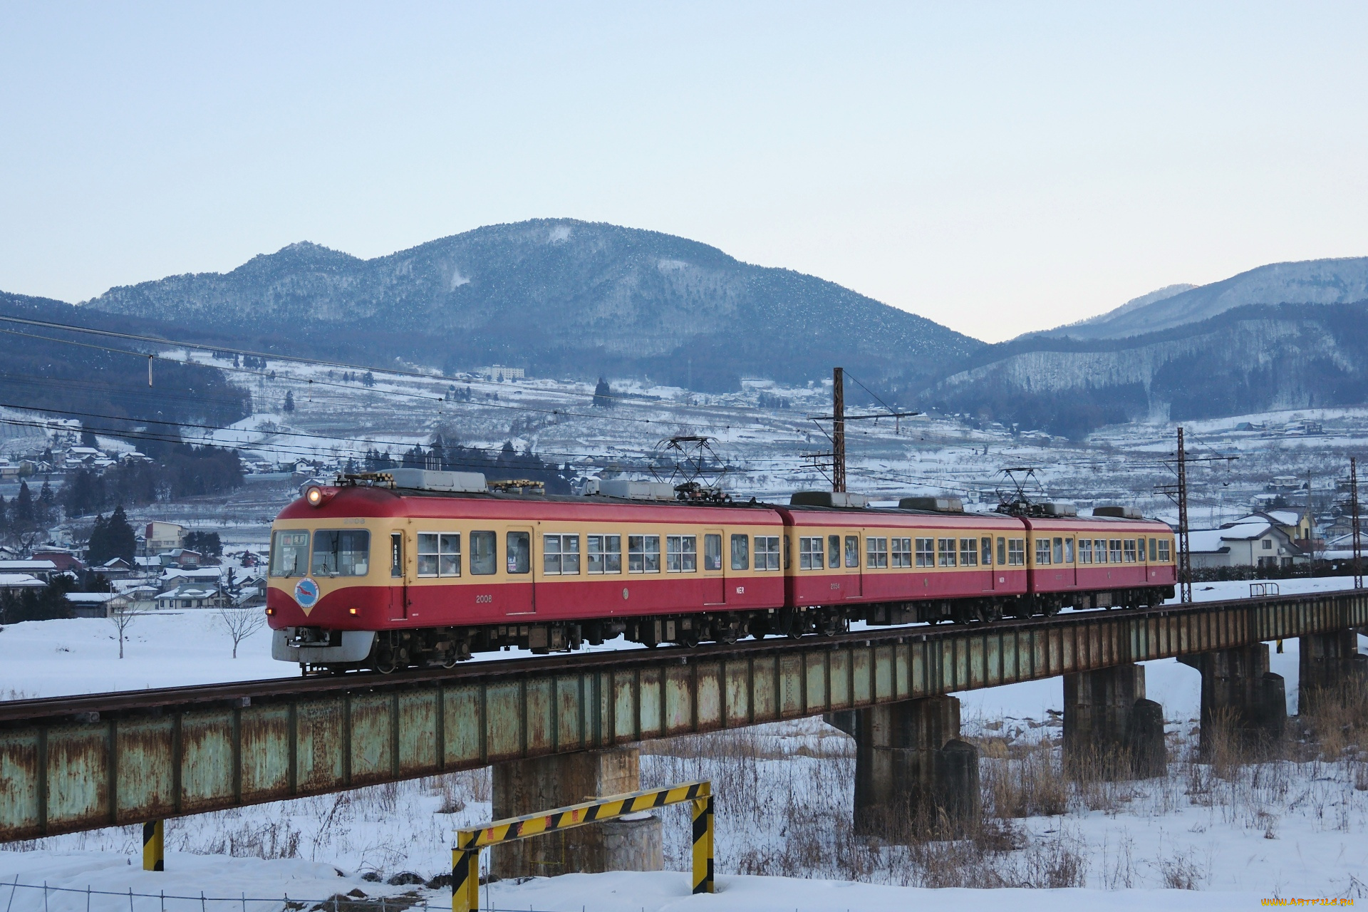
M1368 595L0 703L0 841L1368 626Z

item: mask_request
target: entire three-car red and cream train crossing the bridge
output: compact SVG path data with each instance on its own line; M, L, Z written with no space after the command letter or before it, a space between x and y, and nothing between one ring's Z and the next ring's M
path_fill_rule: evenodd
M817 506L843 499L851 506ZM479 474L419 469L312 487L271 533L272 655L391 671L506 645L562 651L625 634L692 647L851 621L1135 607L1174 591L1163 522L793 500L501 494Z

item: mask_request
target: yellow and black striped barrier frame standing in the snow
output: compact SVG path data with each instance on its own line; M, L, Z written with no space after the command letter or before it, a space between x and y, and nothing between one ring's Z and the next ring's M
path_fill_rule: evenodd
M694 803L694 893L713 891L713 783L684 782L663 789L611 794L581 804L572 804L542 814L495 820L480 827L456 831L451 849L451 912L477 912L480 908L480 849L513 842L543 833L570 830L577 826L611 820L624 814L650 811L666 804ZM699 837L702 827L703 835Z

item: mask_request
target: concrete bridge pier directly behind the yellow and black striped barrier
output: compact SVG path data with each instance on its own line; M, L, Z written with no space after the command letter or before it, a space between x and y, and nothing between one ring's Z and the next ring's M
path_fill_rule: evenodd
M635 747L508 760L494 764L492 815L502 820L640 788L640 751ZM490 848L490 872L498 878L663 868L662 822L650 815Z

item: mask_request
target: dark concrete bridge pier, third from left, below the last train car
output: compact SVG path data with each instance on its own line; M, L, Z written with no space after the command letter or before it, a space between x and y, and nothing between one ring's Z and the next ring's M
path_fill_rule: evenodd
M1064 766L1104 779L1168 771L1164 708L1145 699L1145 666L1064 675Z

